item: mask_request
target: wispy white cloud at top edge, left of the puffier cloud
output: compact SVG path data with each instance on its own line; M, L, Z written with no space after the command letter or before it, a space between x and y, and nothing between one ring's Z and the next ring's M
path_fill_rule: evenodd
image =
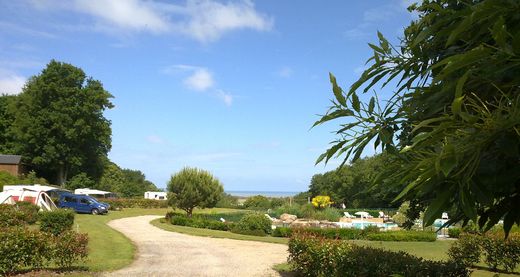
M168 31L167 18L150 4L139 0L76 0L75 8L93 16L101 26L153 33Z

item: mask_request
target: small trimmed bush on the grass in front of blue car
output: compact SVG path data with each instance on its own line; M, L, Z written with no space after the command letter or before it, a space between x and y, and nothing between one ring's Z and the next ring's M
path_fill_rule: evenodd
M66 209L41 212L40 230L57 236L72 228L75 215L76 213Z

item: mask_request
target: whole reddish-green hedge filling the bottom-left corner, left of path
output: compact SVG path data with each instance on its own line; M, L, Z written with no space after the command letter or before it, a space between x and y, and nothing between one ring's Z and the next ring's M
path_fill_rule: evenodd
M27 228L0 229L0 275L38 269L49 263L70 267L87 257L86 234L66 231L49 237Z

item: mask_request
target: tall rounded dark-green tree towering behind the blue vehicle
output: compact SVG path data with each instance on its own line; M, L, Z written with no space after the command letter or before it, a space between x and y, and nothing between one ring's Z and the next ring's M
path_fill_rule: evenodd
M60 185L69 175L95 169L111 148L110 121L103 116L111 97L80 68L52 60L9 106L16 152Z

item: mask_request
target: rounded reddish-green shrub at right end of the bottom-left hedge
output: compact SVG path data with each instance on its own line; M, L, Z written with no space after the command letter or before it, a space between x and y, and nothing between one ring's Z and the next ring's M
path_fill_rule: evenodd
M65 231L54 238L52 258L61 268L69 268L88 256L88 236Z

